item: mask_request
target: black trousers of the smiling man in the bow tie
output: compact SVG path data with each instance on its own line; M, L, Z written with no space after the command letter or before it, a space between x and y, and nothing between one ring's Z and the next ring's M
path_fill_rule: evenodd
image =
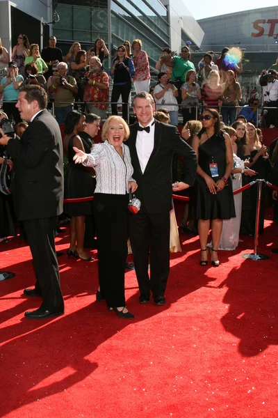
M129 217L129 238L140 293L163 296L170 272L170 211L149 214L141 208Z

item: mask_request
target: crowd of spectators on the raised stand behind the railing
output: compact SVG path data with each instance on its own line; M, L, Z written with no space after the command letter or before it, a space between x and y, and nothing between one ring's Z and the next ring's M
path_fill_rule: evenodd
M56 38L49 38L49 47L42 49L31 44L24 34L20 34L17 45L10 56L0 40L0 95L3 95L3 110L15 122L19 114L15 108L18 89L21 84L43 86L50 102L54 102L54 113L60 125L72 109L81 109L94 113L105 121L111 110L117 115L122 108L122 117L129 123L129 105L132 84L136 93L146 91L154 93L159 107L170 110L170 121L179 124L179 114L183 116L183 125L197 119L205 107L220 111L225 125L234 123L239 105L240 111L248 121L259 122L259 107L263 107L261 123L265 127L278 127L275 108L278 106L277 65L270 67L266 82L261 82L265 70L256 84L261 86L263 100L251 98L248 104L242 98L238 74L243 72L242 56L236 47L222 49L216 57L208 51L195 65L191 60L188 46L181 48L181 54L164 48L155 68L158 82L151 86L151 73L147 52L142 49L142 41L125 40L117 47L111 59L111 68L106 72L104 60L108 59L104 40L97 39L95 45L85 51L79 42L74 42L63 58L61 49L56 47ZM154 76L156 77L156 76ZM109 88L112 85L112 93ZM111 106L111 109L110 109ZM270 108L270 109L268 109ZM261 115L260 115L261 116Z

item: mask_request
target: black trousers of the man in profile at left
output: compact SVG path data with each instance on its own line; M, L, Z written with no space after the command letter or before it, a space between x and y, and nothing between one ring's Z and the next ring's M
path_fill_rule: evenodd
M35 290L42 295L42 306L44 309L63 311L64 301L54 243L57 223L58 217L23 221L37 277Z

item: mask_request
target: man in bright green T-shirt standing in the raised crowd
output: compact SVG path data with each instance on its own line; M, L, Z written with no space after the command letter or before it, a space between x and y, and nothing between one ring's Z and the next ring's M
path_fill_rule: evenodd
M163 62L168 67L172 67L171 80L178 89L178 103L181 103L181 86L186 82L186 73L189 70L195 70L194 64L189 61L191 58L190 49L186 46L181 48L181 56L177 56L177 52L170 52L163 56Z

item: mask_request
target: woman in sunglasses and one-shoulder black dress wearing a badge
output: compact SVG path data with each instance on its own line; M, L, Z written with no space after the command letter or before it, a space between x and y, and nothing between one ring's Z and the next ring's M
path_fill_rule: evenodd
M211 264L218 267L218 245L223 219L236 216L231 185L233 150L231 139L220 130L220 117L215 109L201 116L202 130L193 138L192 148L198 158L195 217L198 220L201 265L208 264L207 240L211 224Z

